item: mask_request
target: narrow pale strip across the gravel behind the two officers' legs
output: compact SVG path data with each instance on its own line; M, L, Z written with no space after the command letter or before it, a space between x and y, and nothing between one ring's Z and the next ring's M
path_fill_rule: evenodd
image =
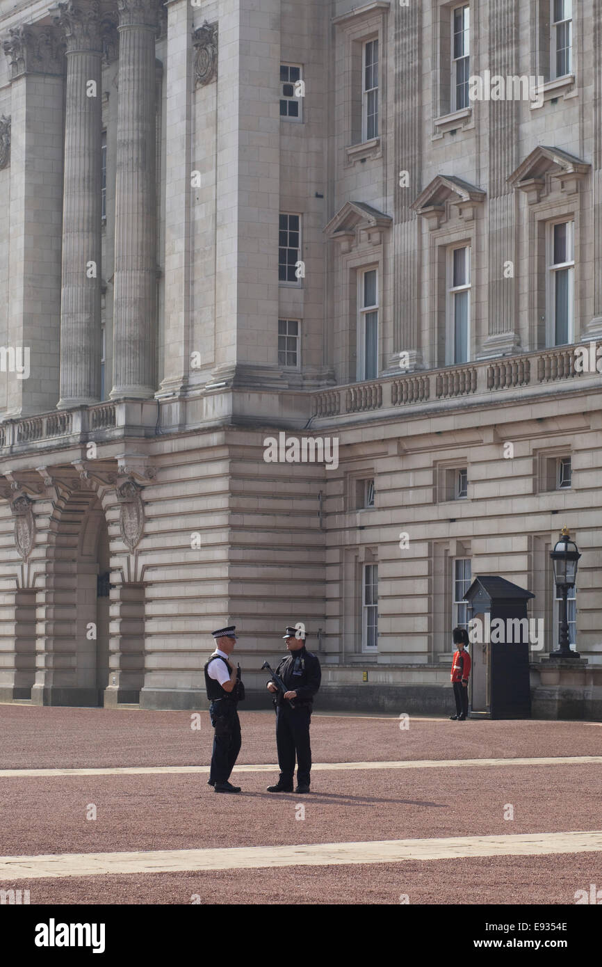
M539 759L408 759L405 762L315 762L312 772L373 769L460 769L499 766L599 766L602 755L555 755ZM107 766L99 769L0 769L0 778L58 778L65 776L177 776L203 775L209 766ZM239 773L277 772L276 765L240 765Z

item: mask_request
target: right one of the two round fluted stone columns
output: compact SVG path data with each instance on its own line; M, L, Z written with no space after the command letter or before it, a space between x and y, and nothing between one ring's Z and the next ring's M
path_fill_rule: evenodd
M111 398L157 382L156 0L118 0L119 104Z

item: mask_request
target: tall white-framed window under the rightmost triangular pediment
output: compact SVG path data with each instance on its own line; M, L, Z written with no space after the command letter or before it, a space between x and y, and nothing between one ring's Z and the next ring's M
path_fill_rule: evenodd
M548 345L573 341L574 222L550 225L548 238Z

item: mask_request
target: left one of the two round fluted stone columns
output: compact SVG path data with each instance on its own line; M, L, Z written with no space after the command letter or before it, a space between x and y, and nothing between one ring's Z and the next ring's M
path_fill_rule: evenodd
M59 3L67 43L58 409L100 400L99 0Z

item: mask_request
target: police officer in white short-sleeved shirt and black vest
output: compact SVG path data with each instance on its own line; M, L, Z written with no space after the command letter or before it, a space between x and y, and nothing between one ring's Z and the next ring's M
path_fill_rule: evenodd
M229 656L236 644L236 626L213 631L215 652L205 664L205 687L211 705L209 714L214 726L214 748L211 757L209 785L215 792L240 792L240 786L228 782L241 751L241 722L237 706L244 699L241 666L234 667Z

